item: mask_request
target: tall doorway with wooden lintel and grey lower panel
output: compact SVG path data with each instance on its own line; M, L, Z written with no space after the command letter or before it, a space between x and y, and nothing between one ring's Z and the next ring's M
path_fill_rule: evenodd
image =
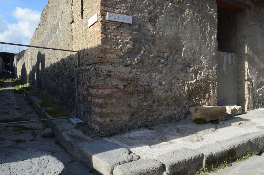
M245 89L239 88L238 68L242 62L237 51L242 45L240 38L241 12L251 9L251 6L237 0L216 0L218 6L218 53L217 53L217 105L239 104L239 93ZM239 16L239 19L237 19ZM241 94L241 93L240 93Z

